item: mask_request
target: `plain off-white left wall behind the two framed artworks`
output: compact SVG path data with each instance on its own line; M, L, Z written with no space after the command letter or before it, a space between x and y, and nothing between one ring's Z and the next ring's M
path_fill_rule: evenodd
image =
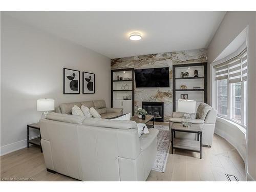
M97 42L95 42L97 43ZM1 13L1 154L26 146L28 123L41 116L39 98L62 102L105 99L110 106L110 58ZM95 73L95 94L63 94L63 68ZM33 133L35 136L38 133Z

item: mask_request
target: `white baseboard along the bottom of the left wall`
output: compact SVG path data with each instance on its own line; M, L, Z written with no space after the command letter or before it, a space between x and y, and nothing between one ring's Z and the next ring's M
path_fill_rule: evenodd
M39 137L39 135L30 137L29 139L34 139L36 137ZM25 147L27 147L27 139L1 146L0 147L0 156L15 152L17 150L21 150L22 148L25 148Z

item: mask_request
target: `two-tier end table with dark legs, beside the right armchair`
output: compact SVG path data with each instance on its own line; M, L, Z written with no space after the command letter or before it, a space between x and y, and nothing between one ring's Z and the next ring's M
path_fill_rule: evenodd
M189 127L185 127L182 123L173 123L172 126L172 154L174 148L182 150L188 150L191 152L200 153L200 159L202 159L202 124L191 124ZM175 132L196 133L197 140L189 140L184 138L175 138Z

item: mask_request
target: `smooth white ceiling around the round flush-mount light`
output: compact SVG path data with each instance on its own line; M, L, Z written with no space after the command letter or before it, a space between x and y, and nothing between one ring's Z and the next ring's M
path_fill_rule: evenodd
M226 12L5 12L109 58L207 48ZM131 41L139 31L142 40Z

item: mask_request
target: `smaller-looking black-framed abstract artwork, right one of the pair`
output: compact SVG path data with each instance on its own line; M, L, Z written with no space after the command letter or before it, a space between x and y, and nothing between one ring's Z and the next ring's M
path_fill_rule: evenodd
M95 74L82 72L82 93L95 93Z

